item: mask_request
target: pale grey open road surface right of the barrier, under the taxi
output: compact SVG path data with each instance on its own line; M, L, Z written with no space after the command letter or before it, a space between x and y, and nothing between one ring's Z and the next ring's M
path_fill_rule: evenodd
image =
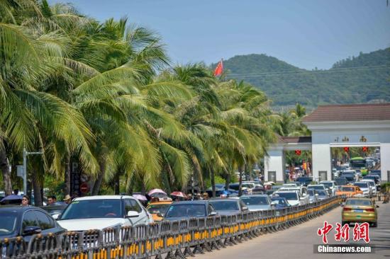
M321 244L321 237L317 236L317 229L323 226L323 221L335 225L341 223L341 207L333 209L327 214L306 221L298 226L293 226L284 231L278 231L273 234L266 234L253 238L249 241L243 241L236 246L228 246L220 251L213 251L204 255L196 255L198 259L237 259L237 258L288 258L288 259L313 259L313 258L335 258L335 259L372 259L372 258L390 258L390 204L379 205L378 227L369 228L371 238L370 245L374 245L374 253L371 254L318 254L313 253L313 245ZM350 237L352 239L351 225ZM342 244L344 242L335 241L335 232L332 230L328 234L329 243ZM352 241L353 242L353 241Z

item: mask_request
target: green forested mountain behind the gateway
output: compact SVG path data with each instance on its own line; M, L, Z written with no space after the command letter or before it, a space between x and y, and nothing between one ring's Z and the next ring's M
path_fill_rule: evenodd
M212 64L215 67L216 64ZM228 79L249 82L267 93L274 108L301 103L390 101L390 48L336 62L331 69L306 70L266 54L247 54L223 62Z

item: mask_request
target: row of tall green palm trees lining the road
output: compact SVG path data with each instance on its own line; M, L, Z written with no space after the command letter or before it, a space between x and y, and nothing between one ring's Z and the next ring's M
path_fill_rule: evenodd
M37 204L45 175L69 193L74 161L94 179L92 195L119 180L132 192L229 179L259 161L281 122L256 88L201 64L172 67L157 33L69 4L0 1L0 62L4 189L23 148L41 149L28 164Z

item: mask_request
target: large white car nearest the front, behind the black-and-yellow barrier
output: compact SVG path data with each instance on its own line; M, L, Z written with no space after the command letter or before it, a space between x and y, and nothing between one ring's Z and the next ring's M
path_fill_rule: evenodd
M150 224L153 219L134 197L101 195L74 199L57 222L68 231L83 231Z

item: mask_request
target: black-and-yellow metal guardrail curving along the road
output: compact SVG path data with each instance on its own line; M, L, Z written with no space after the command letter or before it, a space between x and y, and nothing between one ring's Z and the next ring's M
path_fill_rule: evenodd
M161 221L103 231L69 231L59 236L38 234L28 243L22 237L4 238L0 239L0 251L6 258L159 259L164 254L166 258L186 258L295 226L338 207L340 200L330 197L285 209Z

